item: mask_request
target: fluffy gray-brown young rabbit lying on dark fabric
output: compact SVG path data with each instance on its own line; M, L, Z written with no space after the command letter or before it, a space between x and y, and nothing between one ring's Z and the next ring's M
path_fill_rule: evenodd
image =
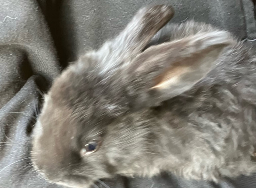
M31 152L49 182L89 188L168 172L218 183L256 172L255 55L228 31L167 24L173 16L170 5L141 8L54 81Z

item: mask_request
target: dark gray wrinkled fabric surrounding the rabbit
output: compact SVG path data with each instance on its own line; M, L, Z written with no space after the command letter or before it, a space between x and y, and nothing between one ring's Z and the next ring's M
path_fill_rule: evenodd
M58 187L42 180L30 163L40 93L47 91L60 67L114 37L138 8L152 2L172 4L172 22L210 23L255 45L251 0L0 1L0 188ZM253 188L256 176L223 179L218 185L171 174L104 182L111 188Z

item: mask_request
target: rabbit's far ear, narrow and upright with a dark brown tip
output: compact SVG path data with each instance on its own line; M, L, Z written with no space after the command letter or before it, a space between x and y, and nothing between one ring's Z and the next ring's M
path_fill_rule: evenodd
M124 62L141 53L154 34L173 16L172 6L156 5L141 8L116 38L105 42L100 49L92 51L87 56L98 62L100 74L110 74ZM82 67L87 56L84 55L78 60Z

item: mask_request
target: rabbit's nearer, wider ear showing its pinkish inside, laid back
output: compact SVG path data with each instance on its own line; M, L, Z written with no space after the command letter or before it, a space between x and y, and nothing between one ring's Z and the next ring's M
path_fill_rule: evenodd
M150 106L180 95L206 77L232 42L227 32L216 31L149 47L127 65L128 91Z

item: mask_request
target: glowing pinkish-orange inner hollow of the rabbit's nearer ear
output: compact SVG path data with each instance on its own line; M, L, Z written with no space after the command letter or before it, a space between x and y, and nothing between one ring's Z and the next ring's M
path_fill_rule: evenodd
M161 75L156 77L156 79L155 79L156 85L151 87L151 89L156 89L156 88L164 89L164 88L167 88L171 84L173 84L176 81L178 81L179 78L182 76L182 74L184 74L184 73L189 71L189 67L188 66L178 65L178 64L182 64L182 63L179 63L179 62L175 63L175 64L176 65L173 65L172 67L170 67L169 69L164 71L164 73L162 73Z

